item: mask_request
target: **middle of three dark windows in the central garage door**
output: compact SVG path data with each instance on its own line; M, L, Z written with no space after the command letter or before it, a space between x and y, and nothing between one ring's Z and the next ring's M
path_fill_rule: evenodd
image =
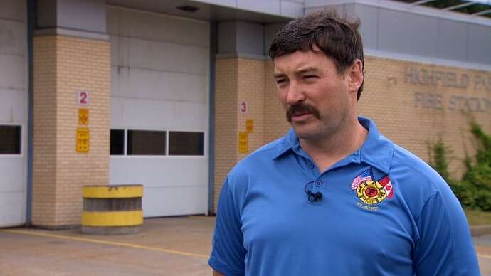
M128 155L165 155L164 131L128 130Z

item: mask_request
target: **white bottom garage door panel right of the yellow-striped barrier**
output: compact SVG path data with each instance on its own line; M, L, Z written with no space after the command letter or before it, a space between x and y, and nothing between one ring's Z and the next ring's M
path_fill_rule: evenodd
M204 214L206 187L146 188L142 200L143 216Z

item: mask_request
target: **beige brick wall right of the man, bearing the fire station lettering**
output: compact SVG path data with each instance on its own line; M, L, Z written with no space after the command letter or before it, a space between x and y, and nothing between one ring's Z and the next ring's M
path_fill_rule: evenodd
M406 68L438 70L444 73L467 74L467 88L422 85L406 80ZM359 113L374 119L379 130L389 139L428 161L428 142L438 137L453 150L450 173L458 177L463 173L465 152L475 153L475 143L469 132L468 121L473 117L487 132L491 132L491 109L487 112L462 112L451 110L450 97L478 97L491 100L490 90L476 89L476 76L491 79L491 73L462 68L426 65L388 58L366 57L365 90L359 100ZM491 86L491 83L489 84ZM415 101L415 92L440 95L443 108L422 107Z

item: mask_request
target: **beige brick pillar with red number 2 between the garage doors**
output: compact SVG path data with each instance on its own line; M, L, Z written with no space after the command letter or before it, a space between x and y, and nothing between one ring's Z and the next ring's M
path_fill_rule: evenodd
M82 186L109 182L110 45L67 36L34 38L34 225L80 224ZM90 91L90 151L76 152L78 90ZM80 126L81 127L81 126Z

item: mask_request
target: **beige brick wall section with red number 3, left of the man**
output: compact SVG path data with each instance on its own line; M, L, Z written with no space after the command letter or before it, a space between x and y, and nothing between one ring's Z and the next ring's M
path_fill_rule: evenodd
M214 210L223 180L237 161L247 154L238 152L238 132L246 131L246 121L253 120L248 133L248 154L264 144L264 78L263 60L218 58L215 80L215 193ZM242 113L241 102L248 111Z

